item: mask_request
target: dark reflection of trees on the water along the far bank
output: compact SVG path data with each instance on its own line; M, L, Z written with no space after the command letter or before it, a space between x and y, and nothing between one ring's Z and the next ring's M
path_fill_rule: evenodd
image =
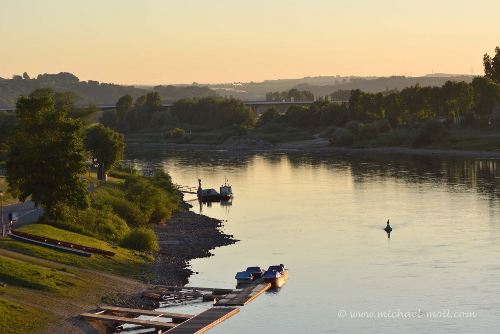
M125 157L141 166L148 162L163 169L164 161L175 161L185 168L244 167L261 157L270 165L283 161L292 168L313 170L349 170L354 185L390 178L402 184L439 182L463 190L475 188L493 198L500 198L500 162L490 159L436 157L405 154L341 154L331 152L233 152L215 150L172 149L161 147L127 147Z

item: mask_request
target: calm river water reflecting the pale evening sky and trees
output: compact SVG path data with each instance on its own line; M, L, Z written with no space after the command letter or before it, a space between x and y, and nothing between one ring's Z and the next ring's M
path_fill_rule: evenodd
M233 288L247 266L289 279L207 333L487 333L500 328L500 163L415 155L234 155L128 147L175 183L232 186L192 210L240 241L191 261L189 285ZM383 230L387 219L393 230ZM197 314L209 302L168 311Z

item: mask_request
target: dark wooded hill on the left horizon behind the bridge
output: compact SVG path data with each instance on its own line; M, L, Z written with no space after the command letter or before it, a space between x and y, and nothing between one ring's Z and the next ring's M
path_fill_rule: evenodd
M19 95L28 95L36 88L50 87L56 92L76 92L81 99L77 105L113 105L118 99L130 94L134 99L145 95L151 90L159 93L164 102L175 101L183 97L217 96L217 93L207 87L199 86L155 86L152 89L140 89L134 86L99 83L98 81L80 81L71 73L40 74L38 77L23 79L15 76L14 79L0 80L0 108L12 108Z

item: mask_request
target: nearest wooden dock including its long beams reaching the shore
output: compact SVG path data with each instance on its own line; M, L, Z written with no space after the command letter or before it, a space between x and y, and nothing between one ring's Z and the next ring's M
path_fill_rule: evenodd
M100 311L97 313L82 313L80 314L80 318L154 327L158 334L166 331L174 334L201 333L239 312L239 307L211 307L197 315L148 311L143 309L114 306L102 306L99 309ZM105 314L107 312L122 313L124 316ZM137 319L126 317L126 315L148 315L152 316L152 318L147 320ZM172 319L172 322L157 321L158 318L170 318Z

